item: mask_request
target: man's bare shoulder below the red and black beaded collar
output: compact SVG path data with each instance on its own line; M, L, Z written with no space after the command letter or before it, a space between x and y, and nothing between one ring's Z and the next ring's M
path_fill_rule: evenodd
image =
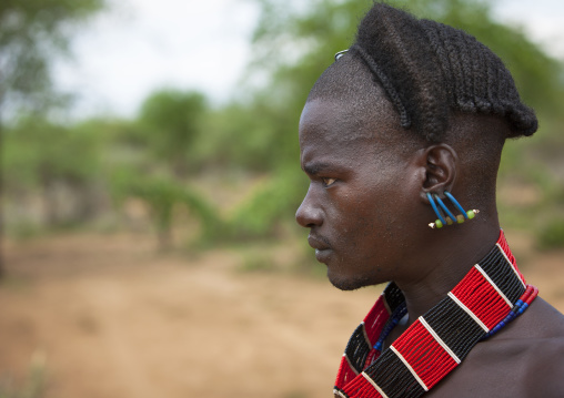
M564 315L542 298L479 343L433 397L563 397Z

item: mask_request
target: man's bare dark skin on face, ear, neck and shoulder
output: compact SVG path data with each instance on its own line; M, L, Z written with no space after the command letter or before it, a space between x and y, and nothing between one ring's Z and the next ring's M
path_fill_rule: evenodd
M409 320L392 331L389 346L489 253L500 225L495 193L486 192L475 220L430 229L435 216L427 192L450 191L469 207L473 171L457 154L464 147L407 136L383 94L374 112L377 123L359 125L340 100L305 104L301 165L311 183L296 221L310 228L310 245L336 287L394 280L402 289ZM563 397L563 355L564 317L537 297L426 396Z

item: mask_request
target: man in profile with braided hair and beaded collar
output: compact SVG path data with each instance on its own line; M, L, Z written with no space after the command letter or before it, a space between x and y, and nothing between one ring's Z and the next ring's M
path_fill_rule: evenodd
M564 397L564 316L518 272L495 204L504 141L536 127L486 47L382 3L318 80L296 220L338 288L392 282L336 397Z

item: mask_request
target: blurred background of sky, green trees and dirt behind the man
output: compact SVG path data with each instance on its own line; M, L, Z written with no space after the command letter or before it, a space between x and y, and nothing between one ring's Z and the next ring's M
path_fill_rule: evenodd
M564 3L394 0L474 34L541 129L502 225L564 310ZM0 398L328 397L381 287L326 282L298 120L367 0L0 3Z

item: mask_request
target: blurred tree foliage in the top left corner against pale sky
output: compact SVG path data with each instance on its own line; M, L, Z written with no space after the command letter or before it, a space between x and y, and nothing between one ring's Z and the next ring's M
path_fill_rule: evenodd
M103 0L0 2L0 110L52 102L50 67L68 50L72 28L100 11Z

